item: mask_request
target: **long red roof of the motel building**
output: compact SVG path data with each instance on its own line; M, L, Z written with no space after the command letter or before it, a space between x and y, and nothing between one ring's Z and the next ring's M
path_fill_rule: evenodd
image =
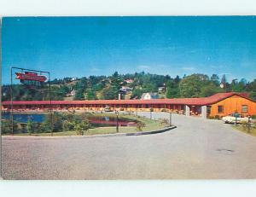
M151 99L151 100L85 100L85 101L51 101L52 104L72 105L72 104L181 104L181 105L211 105L222 101L230 96L241 96L247 98L244 93L227 92L218 93L209 97L201 98L173 98L173 99ZM251 100L251 99L249 99ZM253 100L251 100L253 101ZM3 101L3 105L10 105L11 101ZM49 101L13 101L14 105L47 105Z

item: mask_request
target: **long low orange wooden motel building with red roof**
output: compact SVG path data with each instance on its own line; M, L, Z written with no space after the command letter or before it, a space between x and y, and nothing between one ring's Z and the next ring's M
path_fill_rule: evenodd
M250 99L246 93L218 93L201 98L173 98L149 100L93 100L93 101L13 101L14 111L27 110L111 110L128 112L172 112L186 116L223 117L231 113L241 113L243 116L256 115L256 101ZM9 111L11 101L2 102L2 110Z

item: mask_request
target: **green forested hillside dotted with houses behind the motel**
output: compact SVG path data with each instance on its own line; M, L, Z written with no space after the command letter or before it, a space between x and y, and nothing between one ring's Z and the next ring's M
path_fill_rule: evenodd
M90 76L88 78L62 78L51 81L52 100L95 100L118 99L122 87L129 88L129 99L140 99L145 92L158 92L160 98L203 97L218 92L247 92L256 100L256 79L248 82L245 78L233 79L231 83L225 76L195 73L175 78L169 75L157 75L145 72L119 74L111 76ZM224 88L220 88L220 84ZM49 84L41 87L13 85L14 101L49 100ZM127 92L122 92L123 99ZM2 101L10 100L10 87L3 85Z

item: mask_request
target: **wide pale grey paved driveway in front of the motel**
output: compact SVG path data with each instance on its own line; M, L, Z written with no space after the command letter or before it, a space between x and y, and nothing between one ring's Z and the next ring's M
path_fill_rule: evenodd
M172 123L177 129L148 136L3 136L3 178L256 177L256 137L215 120L174 114Z

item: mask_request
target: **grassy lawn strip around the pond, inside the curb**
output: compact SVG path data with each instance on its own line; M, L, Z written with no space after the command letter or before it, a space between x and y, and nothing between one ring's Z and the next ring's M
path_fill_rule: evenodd
M115 117L116 115L114 113L96 113L96 116L108 116L108 117ZM120 119L131 119L132 120L138 120L145 124L145 127L143 127L142 131L148 131L148 130L159 130L165 127L165 125L160 125L160 122L158 120L154 119L148 119L145 117L137 117L133 114L119 114ZM119 126L119 133L131 133L131 132L137 132L136 126ZM84 132L84 136L90 136L90 135L96 135L96 134L113 134L116 133L116 127L97 127L93 129L86 130ZM27 133L20 133L15 134L15 136L29 136ZM31 136L50 136L50 133L37 133L32 134ZM62 131L62 132L54 132L53 136L76 136L75 131Z

